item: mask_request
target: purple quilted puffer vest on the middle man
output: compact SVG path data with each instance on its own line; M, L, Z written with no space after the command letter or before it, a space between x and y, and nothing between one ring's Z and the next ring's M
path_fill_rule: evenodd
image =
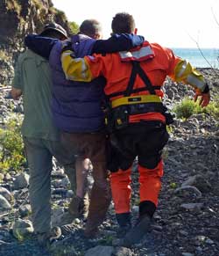
M95 40L77 34L72 38L76 57L91 55ZM54 45L50 57L53 75L52 112L54 124L68 133L96 132L104 127L102 113L105 79L90 83L68 81L61 68L61 42Z

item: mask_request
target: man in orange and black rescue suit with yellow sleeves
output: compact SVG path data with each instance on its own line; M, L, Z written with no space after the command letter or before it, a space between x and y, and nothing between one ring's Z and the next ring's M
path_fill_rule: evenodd
M134 33L135 22L128 13L117 13L112 20L113 33ZM145 43L129 52L74 58L70 50L61 55L67 79L90 81L103 76L104 92L109 99L109 126L112 129L112 156L109 170L117 222L131 227L131 166L138 157L139 219L129 230L122 245L137 243L143 237L158 206L163 162L161 152L168 141L166 124L171 116L161 99L166 77L194 87L201 106L210 100L208 84L189 62L173 55L169 48Z

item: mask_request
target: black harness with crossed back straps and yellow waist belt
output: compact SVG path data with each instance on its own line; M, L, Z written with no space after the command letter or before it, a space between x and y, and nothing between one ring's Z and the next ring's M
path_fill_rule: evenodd
M140 113L162 113L168 118L168 124L173 122L170 120L170 113L166 113L167 108L163 105L161 99L156 95L155 90L160 90L161 86L153 86L150 79L145 74L144 69L141 68L140 62L131 61L131 77L129 84L125 91L117 91L107 96L109 102L109 109L106 115L106 125L109 131L112 132L115 128L125 128L129 124L129 117L133 114ZM145 86L134 89L134 84L137 75L143 80ZM133 93L139 91L149 91L149 95L131 96ZM119 99L113 99L117 96L123 96Z

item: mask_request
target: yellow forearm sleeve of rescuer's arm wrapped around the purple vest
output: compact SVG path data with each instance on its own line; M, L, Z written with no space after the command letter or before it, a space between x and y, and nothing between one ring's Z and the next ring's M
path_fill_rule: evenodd
M90 82L92 74L88 63L83 58L73 58L70 51L61 55L62 69L68 80Z

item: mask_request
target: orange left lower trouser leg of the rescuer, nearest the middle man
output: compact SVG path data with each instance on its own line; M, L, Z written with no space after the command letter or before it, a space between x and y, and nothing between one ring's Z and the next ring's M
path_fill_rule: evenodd
M131 168L126 171L112 172L110 184L116 213L130 212Z

